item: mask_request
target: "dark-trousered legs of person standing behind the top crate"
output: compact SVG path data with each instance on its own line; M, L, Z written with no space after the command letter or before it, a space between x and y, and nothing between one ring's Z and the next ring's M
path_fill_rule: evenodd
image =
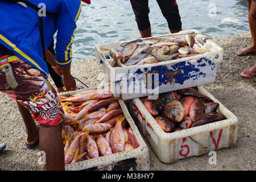
M164 18L166 18L170 32L176 33L182 30L181 20L178 5L176 0L156 0L162 11ZM142 38L151 36L151 25L148 17L150 9L148 7L148 0L130 0L131 7L135 14L135 20L138 25L139 32Z

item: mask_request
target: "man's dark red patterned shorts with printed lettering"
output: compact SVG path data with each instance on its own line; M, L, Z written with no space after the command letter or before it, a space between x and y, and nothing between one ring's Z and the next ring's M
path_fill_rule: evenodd
M7 62L7 66L0 64L0 91L26 107L40 126L51 127L63 122L63 107L47 78L16 56L8 57ZM14 82L18 83L15 89L9 86L10 78L6 74L8 66L13 71Z

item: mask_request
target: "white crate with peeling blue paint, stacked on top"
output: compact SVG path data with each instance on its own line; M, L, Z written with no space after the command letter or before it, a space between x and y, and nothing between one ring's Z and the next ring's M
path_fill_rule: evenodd
M200 33L197 30L186 30L176 34L170 34L169 36L182 38L185 35L180 34L191 32ZM161 37L164 36L157 36L155 38ZM108 62L112 61L113 58L107 49L118 49L122 43L125 42L116 41L97 44L95 46L95 52L96 59L102 63L106 75L105 79L107 79L106 82L110 83L110 89L114 93L114 97L122 97L123 100L214 82L217 63L220 63L223 59L223 49L211 40L207 40L204 46L209 48L210 51L202 55L162 61L154 64L114 68Z

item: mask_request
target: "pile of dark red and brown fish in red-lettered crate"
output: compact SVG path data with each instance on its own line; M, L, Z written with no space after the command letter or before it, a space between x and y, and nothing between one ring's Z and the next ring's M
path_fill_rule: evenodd
M221 121L218 103L198 92L197 88L160 94L158 99L141 98L143 105L167 133Z

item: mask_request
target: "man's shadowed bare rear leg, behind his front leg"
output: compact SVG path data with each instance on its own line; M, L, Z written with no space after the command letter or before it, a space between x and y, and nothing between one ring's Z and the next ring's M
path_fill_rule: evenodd
M36 123L32 118L30 111L28 111L26 107L24 107L23 105L19 104L19 102L16 101L16 103L26 126L27 144L34 144L39 137L39 132L38 128L36 127Z

